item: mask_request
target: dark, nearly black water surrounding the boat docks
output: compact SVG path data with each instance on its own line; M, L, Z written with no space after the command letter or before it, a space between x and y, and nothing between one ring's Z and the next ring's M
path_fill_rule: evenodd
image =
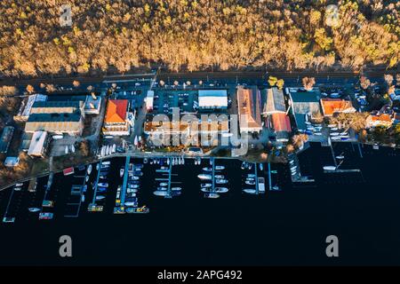
M190 160L174 167L179 176L173 178L183 182L184 191L173 199L152 194L160 175L147 164L139 197L148 215L112 214L124 159L113 160L114 190L101 213L86 212L88 192L80 216L63 217L72 180L59 175L52 187L54 220L37 221L26 213L24 202L32 198L24 197L16 223L0 225L0 264L400 264L400 153L364 147L361 159L356 147L340 144L335 150L347 156L343 169L362 174L322 173L332 155L315 145L300 154L301 170L316 178L314 186L294 187L288 170L275 166L283 191L253 196L241 192L241 162L219 160L230 192L216 200L202 197L196 178L208 160L201 167ZM9 192L0 194L2 214ZM64 234L73 240L68 259L59 256ZM325 256L331 234L340 241L337 258Z

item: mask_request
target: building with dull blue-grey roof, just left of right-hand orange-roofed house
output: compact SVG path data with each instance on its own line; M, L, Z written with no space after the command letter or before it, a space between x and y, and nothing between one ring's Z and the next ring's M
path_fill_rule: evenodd
M321 114L320 91L317 89L305 91L298 88L290 88L288 92L297 128L306 130L308 118L312 119L316 114Z

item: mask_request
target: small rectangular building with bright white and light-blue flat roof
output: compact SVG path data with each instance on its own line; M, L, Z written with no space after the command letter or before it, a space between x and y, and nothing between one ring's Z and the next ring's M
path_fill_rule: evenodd
M227 90L199 90L198 91L199 110L214 110L228 108Z

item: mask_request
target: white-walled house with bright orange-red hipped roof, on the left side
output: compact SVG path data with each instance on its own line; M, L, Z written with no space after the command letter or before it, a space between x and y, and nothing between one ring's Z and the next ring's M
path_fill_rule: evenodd
M103 134L112 136L130 135L130 124L127 114L127 99L109 99L104 119Z

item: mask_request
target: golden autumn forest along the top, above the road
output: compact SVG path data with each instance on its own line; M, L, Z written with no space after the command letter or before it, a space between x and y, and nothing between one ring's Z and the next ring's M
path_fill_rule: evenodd
M2 0L0 74L395 68L399 20L396 0Z

